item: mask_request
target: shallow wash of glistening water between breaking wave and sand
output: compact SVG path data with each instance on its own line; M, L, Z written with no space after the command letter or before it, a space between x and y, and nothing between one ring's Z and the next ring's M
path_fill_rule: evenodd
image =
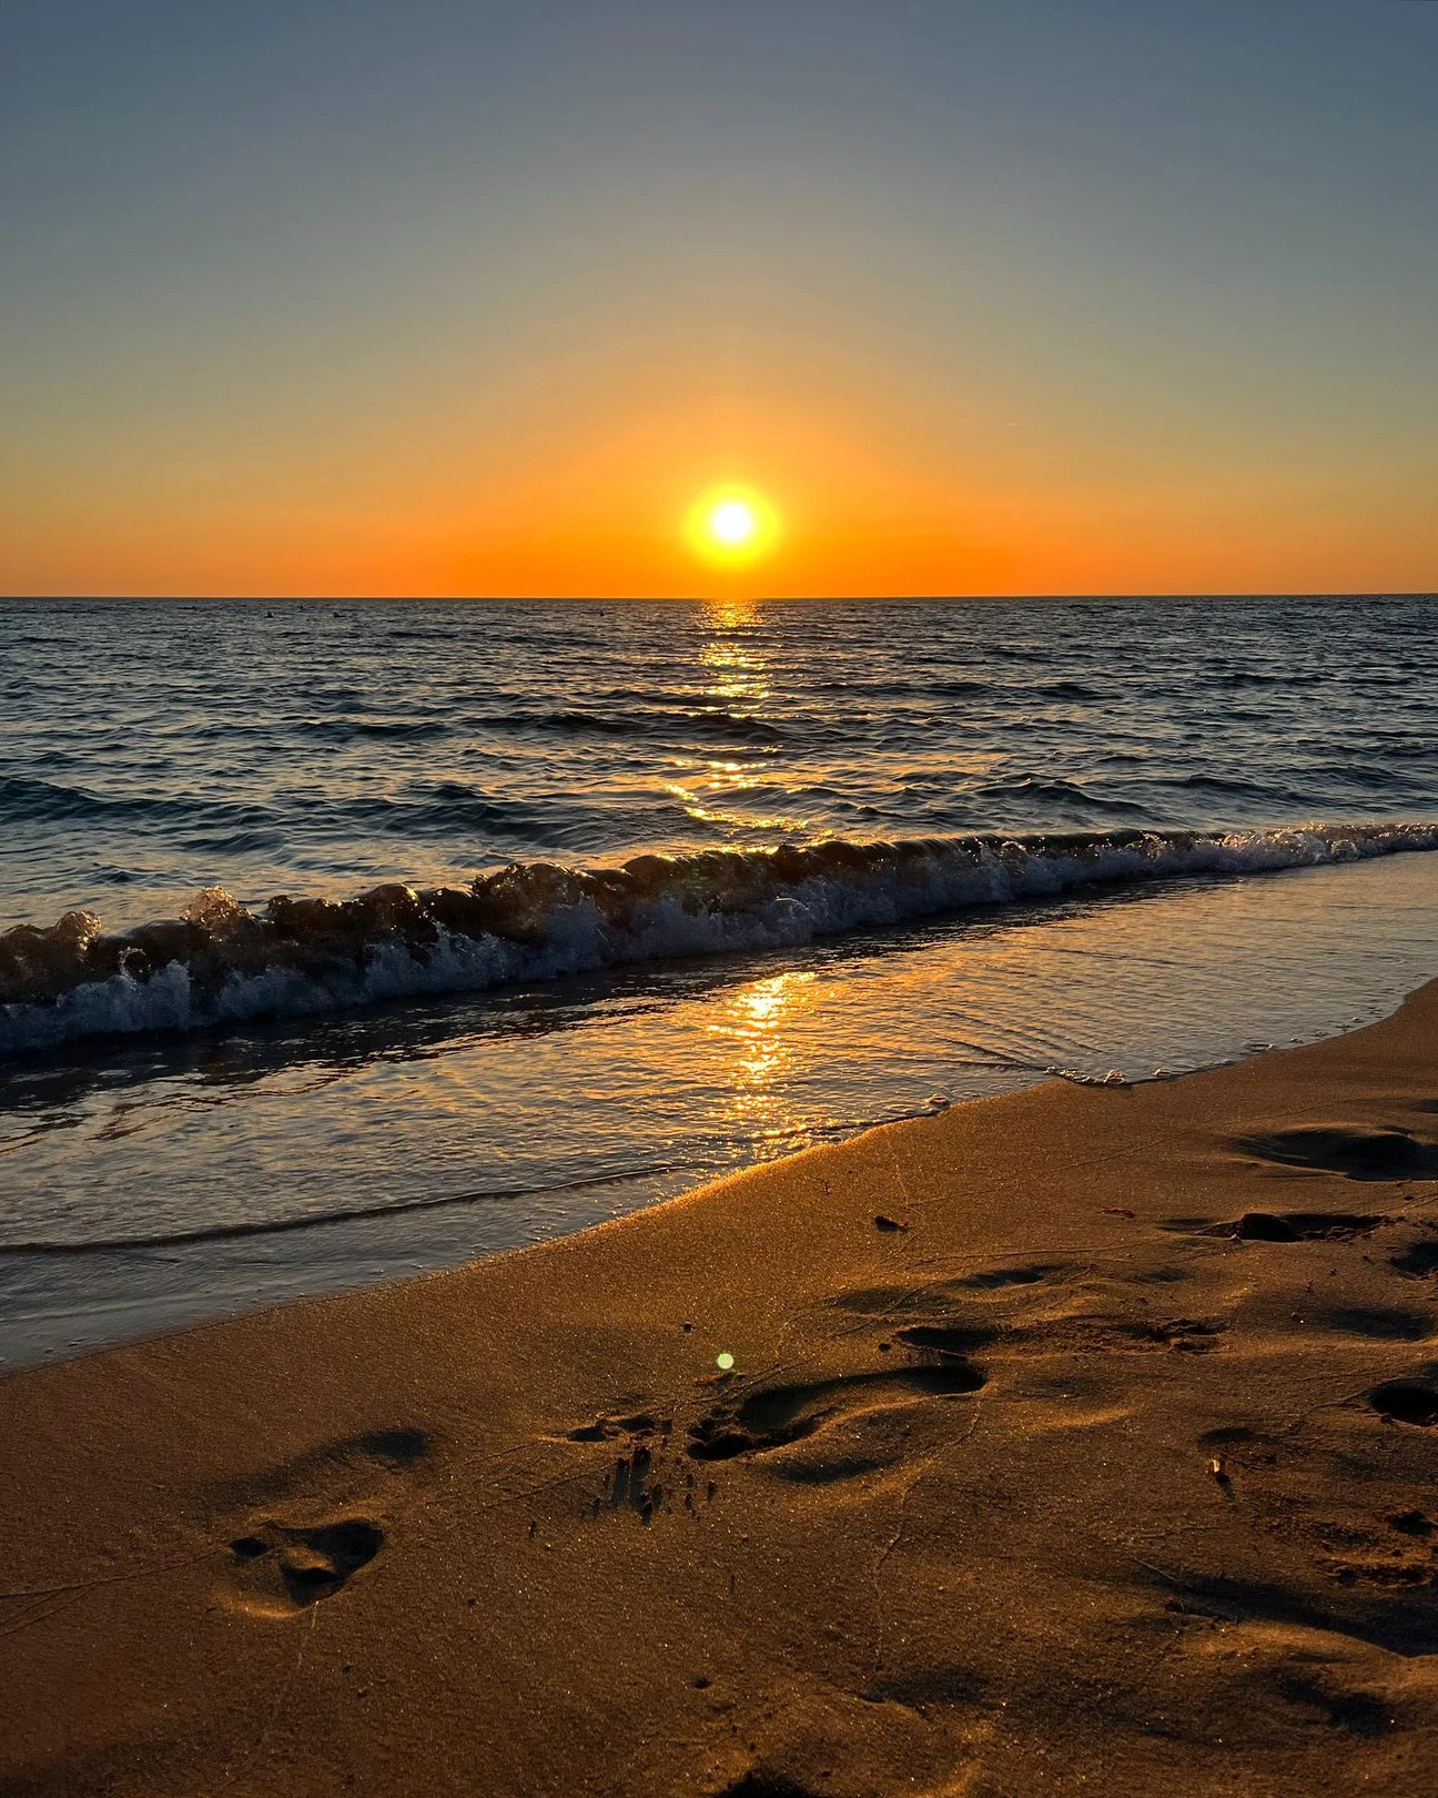
M1433 870L1389 856L579 984L559 1010L395 1007L156 1046L119 1088L104 1063L40 1070L11 1088L0 1356L458 1266L1046 1064L1141 1081L1314 1041L1397 1007L1434 933Z

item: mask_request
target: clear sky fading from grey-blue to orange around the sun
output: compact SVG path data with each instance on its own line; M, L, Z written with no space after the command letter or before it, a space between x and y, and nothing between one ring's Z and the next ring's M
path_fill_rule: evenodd
M0 592L1436 588L1436 72L1434 0L4 0Z

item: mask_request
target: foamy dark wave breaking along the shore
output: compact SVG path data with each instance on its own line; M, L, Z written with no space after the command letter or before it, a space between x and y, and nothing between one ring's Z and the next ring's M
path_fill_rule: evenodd
M343 901L280 895L261 912L209 888L182 917L124 935L108 935L93 912L0 935L0 1054L475 992L626 962L791 948L1084 886L1431 849L1438 823L836 838L644 854L617 868L512 863L464 888L386 885Z

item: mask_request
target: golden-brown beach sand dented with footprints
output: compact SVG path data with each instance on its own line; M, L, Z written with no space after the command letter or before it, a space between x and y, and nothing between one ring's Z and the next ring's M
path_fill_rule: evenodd
M0 1791L1438 1793L1436 1179L1438 985L13 1375Z

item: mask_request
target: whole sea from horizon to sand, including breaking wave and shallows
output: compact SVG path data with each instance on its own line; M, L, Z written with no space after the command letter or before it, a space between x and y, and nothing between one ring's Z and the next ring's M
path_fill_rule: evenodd
M1373 1021L1434 849L1434 595L0 602L0 1357Z

